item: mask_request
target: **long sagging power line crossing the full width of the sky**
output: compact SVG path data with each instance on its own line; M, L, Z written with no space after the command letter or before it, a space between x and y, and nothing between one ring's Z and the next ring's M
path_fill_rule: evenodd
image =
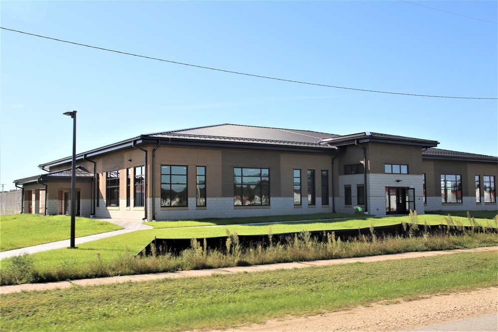
M135 56L135 57L139 57L139 58L145 58L145 59L150 59L150 60L156 60L156 61L174 63L174 64L177 64L177 65L183 65L183 66L189 66L189 67L195 67L195 68L209 69L209 70L214 70L214 71L219 71L219 72L224 72L224 73L230 73L230 74L245 75L245 76L250 76L250 77L258 77L258 78L263 78L263 79L268 79L268 80L275 80L275 81L283 81L283 82L290 82L290 83L299 83L299 84L313 85L313 86L326 87L326 88L345 89L345 90L354 90L354 91L363 91L363 92L374 92L374 93L378 93L378 94L401 95L401 96L432 97L432 98L453 98L453 99L488 99L488 100L496 100L496 99L498 99L498 98L451 97L451 96L431 96L431 95L404 94L404 93L397 93L397 92L386 92L386 91L375 91L375 90L366 90L366 89L345 88L345 87L338 87L338 86L326 85L326 84L318 84L318 83L309 83L309 82L301 82L301 81L294 81L294 80L286 80L286 79L281 79L281 78L275 78L275 77L269 77L269 76L261 76L261 75L254 75L254 74L247 74L247 73L239 73L239 72L230 71L230 70L224 70L224 69L217 69L217 68L211 68L211 67L204 67L204 66L192 65L192 64L188 64L188 63L182 63L182 62L176 62L176 61L171 61L171 60L164 60L164 59L159 59L159 58L148 57L148 56L145 56L145 55L138 55L138 54L133 54L133 53L128 53L128 52L116 51L116 50L111 50L111 49L108 49L108 48L91 46L91 45L86 45L86 44L80 44L80 43L76 43L76 42L73 42L73 41L67 41L67 40L62 40L62 39L57 39L57 38L52 38L52 37L41 36L41 35L34 34L34 33L28 33L28 32L23 32L23 31L19 31L19 30L8 29L8 28L4 28L4 27L1 27L1 26L0 26L0 29L8 30L8 31L13 31L13 32L18 32L18 33L22 33L22 34L26 34L26 35L30 35L30 36L35 36L35 37L40 37L40 38L45 38L45 39L60 41L60 42L63 42L63 43L68 43L68 44L73 44L73 45L78 45L78 46L85 46L85 47L89 47L89 48L95 48L95 49L98 49L98 50L103 50L103 51L108 51L108 52L114 52L114 53L119 53L119 54L124 54L124 55L131 55L131 56Z

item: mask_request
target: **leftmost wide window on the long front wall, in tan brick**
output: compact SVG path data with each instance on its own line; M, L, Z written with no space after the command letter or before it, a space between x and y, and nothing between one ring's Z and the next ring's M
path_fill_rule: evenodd
M187 206L187 166L161 165L161 207Z

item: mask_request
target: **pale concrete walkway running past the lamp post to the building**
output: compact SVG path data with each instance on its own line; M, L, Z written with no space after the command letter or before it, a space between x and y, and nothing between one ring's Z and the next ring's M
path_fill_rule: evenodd
M124 219L97 219L97 220L109 221L109 222L112 222L114 224L117 224L118 226L124 227L124 229L114 230L114 231L100 233L100 234L93 234L93 235L88 235L88 236L77 237L77 238L75 238L75 245L76 246L78 246L78 244L81 244L81 243L95 241L95 240L98 240L101 238L121 235L121 234L129 233L129 232L132 232L135 230L140 230L140 229L152 228L152 226L144 225L141 221L124 220ZM32 247L25 247L25 248L20 248L20 249L2 251L2 252L0 252L0 259L22 255L23 253L32 254L35 252L47 251L47 250L52 250L52 249L67 248L67 247L69 247L69 245L70 245L70 240L67 239L67 240L62 240L62 241L57 241L57 242L34 245Z

